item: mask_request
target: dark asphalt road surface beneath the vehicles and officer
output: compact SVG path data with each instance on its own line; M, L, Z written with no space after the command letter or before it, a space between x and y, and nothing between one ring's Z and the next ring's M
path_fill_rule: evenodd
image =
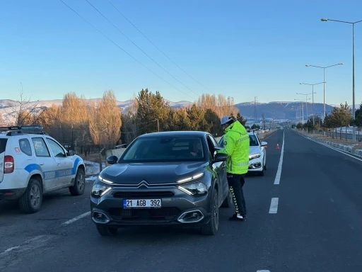
M293 130L265 141L267 174L244 187L247 222L223 208L213 237L155 227L100 237L88 216L63 224L89 211L88 183L34 215L0 202L0 271L362 271L362 162Z

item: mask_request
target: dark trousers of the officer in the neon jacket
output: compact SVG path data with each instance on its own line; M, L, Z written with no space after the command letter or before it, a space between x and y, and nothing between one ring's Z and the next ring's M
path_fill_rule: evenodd
M246 207L245 207L245 198L243 193L245 174L240 175L240 174L227 173L227 175L228 175L229 189L235 205L235 213L236 215L242 215L243 217L245 217Z

